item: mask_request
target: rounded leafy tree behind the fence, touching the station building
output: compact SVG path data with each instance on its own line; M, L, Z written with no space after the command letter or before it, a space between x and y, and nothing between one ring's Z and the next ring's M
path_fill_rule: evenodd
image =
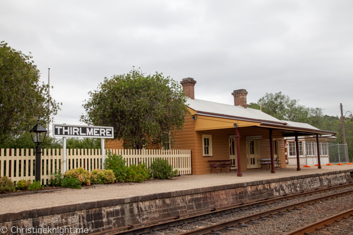
M162 73L146 75L139 70L104 78L97 90L89 92L81 121L113 126L124 147L173 143L172 131L182 130L187 108L181 86Z

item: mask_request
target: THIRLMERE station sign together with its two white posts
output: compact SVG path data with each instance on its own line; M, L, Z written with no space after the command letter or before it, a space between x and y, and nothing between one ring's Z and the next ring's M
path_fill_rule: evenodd
M102 169L104 169L106 138L114 138L114 128L106 126L76 126L66 124L53 124L53 136L63 137L64 173L66 172L66 137L100 138Z

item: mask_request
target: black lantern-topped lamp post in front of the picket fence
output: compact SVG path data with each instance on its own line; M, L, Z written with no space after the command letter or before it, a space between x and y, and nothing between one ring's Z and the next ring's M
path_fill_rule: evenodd
M35 180L40 181L40 158L42 153L40 143L44 141L46 129L40 125L39 120L38 123L32 128L31 134L33 142L37 144L35 147Z

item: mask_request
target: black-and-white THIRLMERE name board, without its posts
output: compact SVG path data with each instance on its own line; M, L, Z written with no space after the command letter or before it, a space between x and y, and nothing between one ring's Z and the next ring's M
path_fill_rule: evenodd
M53 124L54 137L114 138L114 128Z

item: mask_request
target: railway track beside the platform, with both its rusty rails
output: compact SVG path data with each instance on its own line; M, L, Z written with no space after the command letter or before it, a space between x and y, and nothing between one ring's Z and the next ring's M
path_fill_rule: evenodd
M300 193L296 194L290 194L290 195L281 195L281 196L276 196L276 197L271 197L271 198L262 198L257 201L252 201L252 202L246 202L246 203L238 203L238 204L233 204L229 205L227 207L218 207L218 208L211 208L208 210L203 210L203 211L198 211L195 213L191 214L186 214L186 215L181 215L181 216L173 216L169 218L165 218L162 220L155 220L155 221L149 221L145 223L140 223L140 224L134 224L134 225L129 225L125 227L120 227L116 229L111 229L111 230L105 230L103 232L97 232L97 233L92 233L95 235L98 234L110 234L110 235L118 235L118 234L143 234L143 233L148 233L148 232L153 232L153 233L160 233L158 230L160 229L169 229L173 232L177 232L179 234L206 234L209 232L215 232L220 229L228 229L232 230L234 229L234 225L237 227L242 227L242 226L250 226L249 224L244 224L246 222L250 223L256 223L256 221L253 220L266 220L269 219L267 216L270 216L271 218L275 218L278 215L281 215L283 213L289 213L292 210L297 210L300 209L299 207L303 205L308 205L308 204L313 204L318 201L323 201L327 200L333 197L338 197L341 195L346 195L353 193L353 190L347 190L344 192L340 193L335 193L323 197L318 197L306 201L302 201L300 203L293 203L290 205L282 206L279 208L275 208L272 210L267 210L263 211L260 213L252 214L249 216L244 216L241 218L236 218L236 219L230 219L221 223L216 223L216 224L211 224L209 222L204 222L202 221L203 219L206 218L212 218L214 216L224 216L226 217L227 213L233 213L236 211L240 210L246 210L249 208L254 208L257 206L264 206L268 204L272 204L274 202L279 202L279 201L284 201L288 199L293 199L296 197L302 197L302 196L307 196L311 195L314 193L321 193L321 192L326 192L329 190L339 190L344 187L349 187L352 186L352 183L349 184L344 184L344 185L338 185L338 186L332 186L332 187L325 187L325 188L318 188L310 191L302 191ZM200 225L192 225L190 222L197 222ZM183 225L188 227L188 231L185 231L184 229L180 229L177 226L178 225ZM217 233L217 232L216 232ZM175 234L175 233L174 233ZM301 233L303 234L303 233Z

